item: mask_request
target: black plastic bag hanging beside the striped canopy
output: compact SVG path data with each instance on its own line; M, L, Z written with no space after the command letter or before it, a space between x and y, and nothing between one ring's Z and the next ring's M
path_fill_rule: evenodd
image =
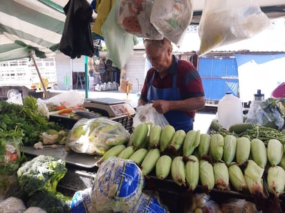
M91 34L92 8L86 0L69 0L64 6L66 21L59 50L72 59L94 55Z

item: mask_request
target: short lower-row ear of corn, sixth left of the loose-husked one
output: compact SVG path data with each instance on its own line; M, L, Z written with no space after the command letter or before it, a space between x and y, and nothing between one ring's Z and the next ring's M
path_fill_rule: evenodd
M156 161L156 177L163 180L166 178L171 169L172 165L172 158L167 155L160 156Z

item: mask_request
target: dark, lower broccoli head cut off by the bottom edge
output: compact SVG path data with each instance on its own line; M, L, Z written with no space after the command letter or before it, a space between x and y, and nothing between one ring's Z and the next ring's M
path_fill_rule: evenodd
M70 212L71 200L60 192L38 191L29 197L26 206L41 207L48 213L64 213Z

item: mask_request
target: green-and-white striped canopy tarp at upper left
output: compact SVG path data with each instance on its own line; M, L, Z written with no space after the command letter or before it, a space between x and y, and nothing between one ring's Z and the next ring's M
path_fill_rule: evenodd
M55 6L57 6L55 4ZM1 0L0 61L55 54L64 30L66 16L57 9L36 0Z

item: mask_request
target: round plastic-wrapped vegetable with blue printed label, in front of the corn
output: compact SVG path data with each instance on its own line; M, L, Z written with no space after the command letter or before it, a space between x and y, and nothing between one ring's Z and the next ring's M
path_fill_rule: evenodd
M145 180L133 160L104 160L93 182L91 203L98 211L130 211L138 203Z

